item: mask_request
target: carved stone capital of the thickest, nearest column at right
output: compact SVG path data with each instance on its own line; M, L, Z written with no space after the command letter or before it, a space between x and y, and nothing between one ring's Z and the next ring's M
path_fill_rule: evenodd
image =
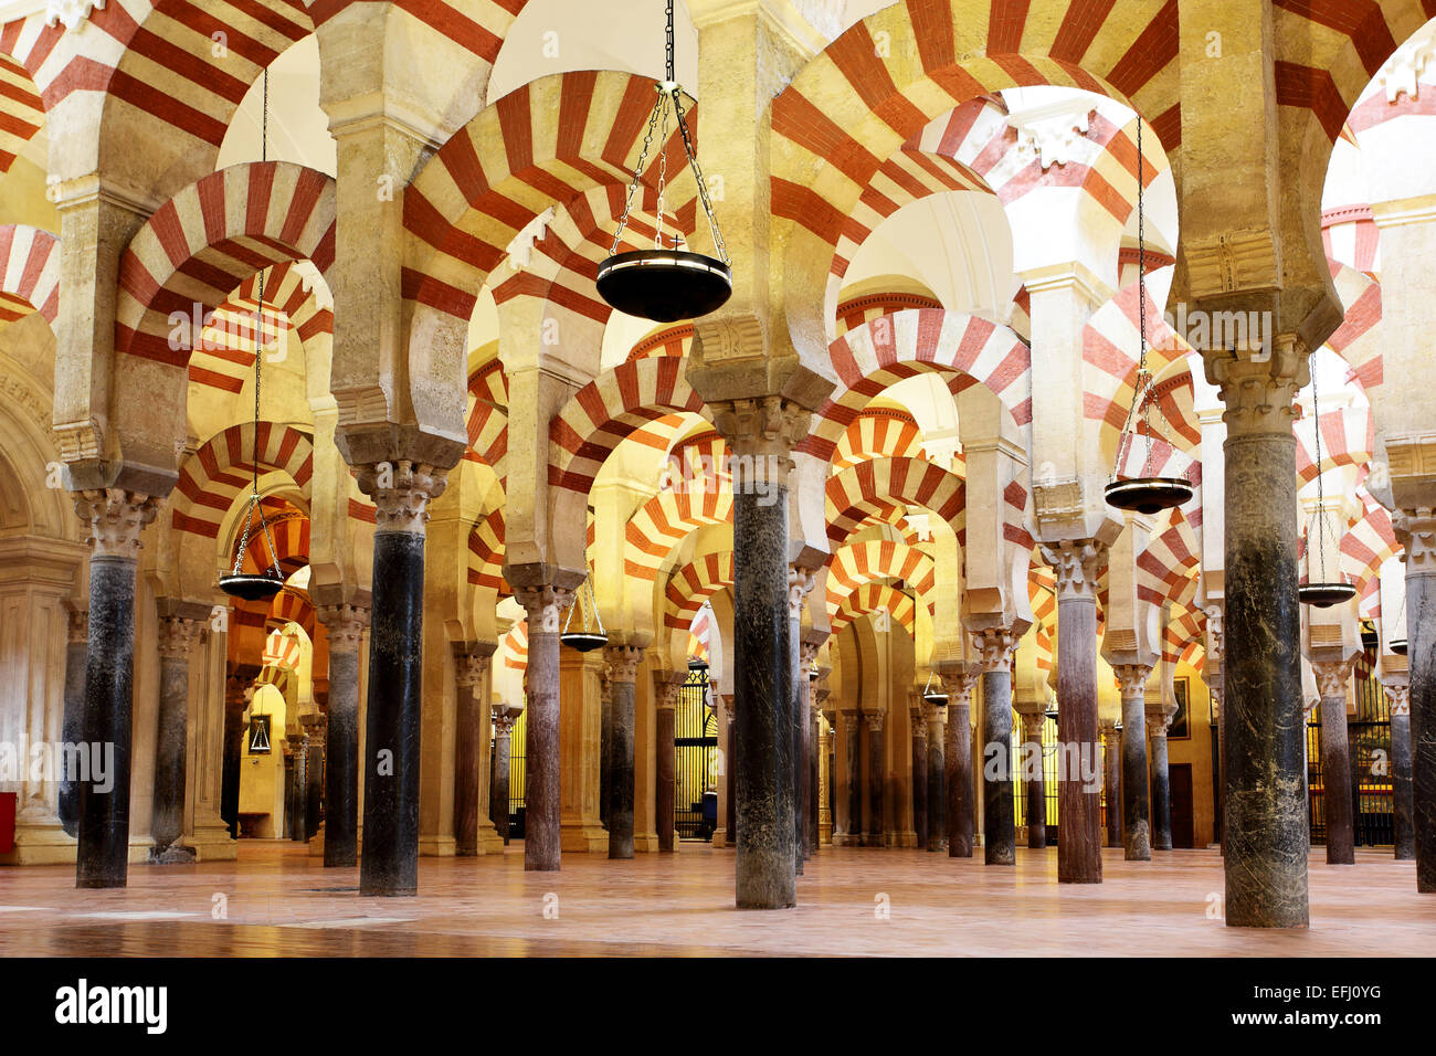
M1226 405L1222 421L1228 437L1285 435L1297 417L1297 392L1311 379L1308 351L1294 333L1277 335L1269 348L1251 336L1248 345L1202 356L1206 379Z

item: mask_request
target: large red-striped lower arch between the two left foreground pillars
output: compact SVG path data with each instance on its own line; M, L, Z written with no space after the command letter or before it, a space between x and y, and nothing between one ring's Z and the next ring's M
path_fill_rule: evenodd
M181 366L169 315L192 318L223 305L271 264L335 259L335 181L284 161L231 165L161 205L119 259L115 341L119 352Z

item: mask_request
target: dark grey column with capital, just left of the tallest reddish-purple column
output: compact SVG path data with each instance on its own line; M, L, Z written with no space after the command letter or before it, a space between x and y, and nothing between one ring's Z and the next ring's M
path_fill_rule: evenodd
M1093 631L1096 641L1096 631ZM975 631L982 654L982 861L1017 865L1017 823L1012 816L1012 651L1021 638L1010 628ZM948 715L956 721L956 715ZM1066 819L1066 815L1063 815ZM1066 822L1063 823L1066 829Z

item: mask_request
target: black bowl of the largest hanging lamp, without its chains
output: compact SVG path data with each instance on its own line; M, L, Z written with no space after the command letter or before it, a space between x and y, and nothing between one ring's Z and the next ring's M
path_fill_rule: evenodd
M685 250L633 250L599 264L599 296L625 315L676 323L722 307L732 296L732 269Z

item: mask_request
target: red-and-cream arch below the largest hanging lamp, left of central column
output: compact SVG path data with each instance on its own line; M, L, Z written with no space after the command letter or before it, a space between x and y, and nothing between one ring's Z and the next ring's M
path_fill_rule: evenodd
M668 356L619 363L579 389L549 427L549 484L587 494L605 460L630 432L669 414L708 409Z

